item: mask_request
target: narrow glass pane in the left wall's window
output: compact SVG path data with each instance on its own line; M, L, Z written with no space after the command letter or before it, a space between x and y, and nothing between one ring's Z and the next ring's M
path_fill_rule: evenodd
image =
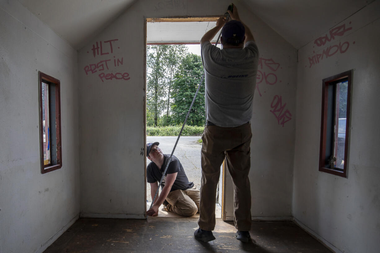
M44 164L51 164L50 155L50 114L49 114L49 85L42 83L42 120L44 138Z

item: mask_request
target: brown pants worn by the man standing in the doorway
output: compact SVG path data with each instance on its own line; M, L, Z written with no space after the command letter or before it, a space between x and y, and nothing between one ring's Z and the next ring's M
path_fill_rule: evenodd
M249 183L251 124L224 128L205 126L202 135L202 179L199 228L215 228L215 198L224 159L234 187L234 223L241 231L251 228L251 188Z

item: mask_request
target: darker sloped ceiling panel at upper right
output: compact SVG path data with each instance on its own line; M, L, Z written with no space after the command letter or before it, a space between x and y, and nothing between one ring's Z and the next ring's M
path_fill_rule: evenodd
M378 0L246 0L251 11L296 49Z

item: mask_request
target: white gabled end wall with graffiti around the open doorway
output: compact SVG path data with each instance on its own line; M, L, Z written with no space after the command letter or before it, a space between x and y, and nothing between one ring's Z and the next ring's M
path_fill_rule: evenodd
M175 5L153 0L136 2L79 51L82 217L144 217L146 158L141 153L145 148L144 21L147 17L218 16L230 4L175 2ZM256 37L263 58L259 70L266 75L266 79L258 77L261 96L256 91L252 119L252 216L290 217L296 50L256 18L248 6L242 3L237 6ZM110 40L115 41L107 42ZM103 55L99 49L94 57L93 45L96 48L98 43L100 47L100 42ZM115 66L114 59L122 59L123 64ZM101 76L110 73L128 73L130 79L101 80ZM271 108L274 98L277 102L275 96L282 99L285 109L273 114L271 110L280 105ZM290 120L282 126L282 119Z

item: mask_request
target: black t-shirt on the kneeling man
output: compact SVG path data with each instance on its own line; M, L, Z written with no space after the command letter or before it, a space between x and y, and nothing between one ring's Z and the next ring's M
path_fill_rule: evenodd
M166 161L168 161L169 157L170 157L170 155L164 155L164 163L162 164L162 167L160 169L158 168L158 166L153 161L151 161L148 164L148 166L146 168L146 181L148 183L160 182L162 174L165 170ZM162 180L161 189L165 186L166 176L168 174L173 174L176 172L178 172L178 174L177 174L176 180L174 181L173 186L171 187L170 191L186 190L186 189L192 188L194 186L193 182L189 182L189 180L185 174L184 167L182 167L182 164L180 163L178 158L173 155L171 157L168 169L166 170L165 177Z

